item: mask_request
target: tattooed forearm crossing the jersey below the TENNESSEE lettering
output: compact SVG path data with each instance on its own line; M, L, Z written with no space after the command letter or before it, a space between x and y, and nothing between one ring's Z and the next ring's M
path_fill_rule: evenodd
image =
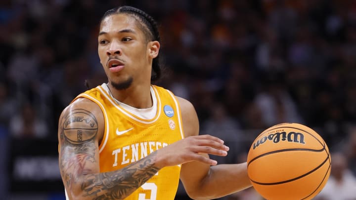
M146 158L116 171L78 175L72 183L73 190L67 189L67 192L71 193L72 199L125 199L158 172L159 168L154 165L155 155L153 152Z

